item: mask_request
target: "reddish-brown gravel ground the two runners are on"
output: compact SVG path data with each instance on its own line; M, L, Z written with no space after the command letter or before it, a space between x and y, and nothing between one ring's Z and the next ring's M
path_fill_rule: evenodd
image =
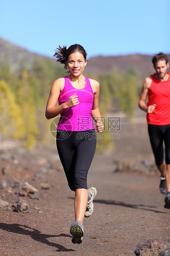
M115 161L153 158L144 116L121 122L115 150L95 154L88 173L88 187L95 186L98 194L93 215L84 218L82 244L71 242L74 192L68 188L55 145L32 152L15 143L13 148L1 149L1 156L12 158L0 161L0 180L10 181L0 189L0 199L9 202L0 208L0 256L133 256L137 244L170 237L170 209L164 208L159 173L113 172ZM1 169L7 165L10 173L3 175ZM19 199L19 189L12 188L16 181L20 185L27 181L38 189L40 200L25 197L29 213L12 211ZM41 187L46 181L51 183L48 190Z

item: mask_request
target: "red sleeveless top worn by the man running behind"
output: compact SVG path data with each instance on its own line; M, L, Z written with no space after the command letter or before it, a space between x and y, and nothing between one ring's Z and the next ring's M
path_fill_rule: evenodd
M147 122L158 126L170 124L170 73L167 81L160 81L151 75L147 106L156 104L153 113L147 113Z

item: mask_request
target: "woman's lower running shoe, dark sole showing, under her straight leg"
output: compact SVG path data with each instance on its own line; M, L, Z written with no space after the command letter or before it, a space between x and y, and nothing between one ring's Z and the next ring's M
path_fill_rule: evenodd
M81 244L84 231L83 231L83 226L80 225L78 222L73 222L71 227L70 227L70 233L72 235L72 243L73 244Z

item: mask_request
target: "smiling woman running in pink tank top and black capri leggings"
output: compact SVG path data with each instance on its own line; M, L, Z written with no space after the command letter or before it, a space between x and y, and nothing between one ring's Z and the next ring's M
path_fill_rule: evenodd
M70 228L73 244L82 243L83 219L93 213L93 199L97 194L95 187L87 189L87 173L96 147L92 118L97 131L104 130L98 108L100 85L83 76L86 55L84 48L77 44L68 49L59 45L56 49L54 56L68 69L68 76L54 81L45 114L47 119L61 114L56 145L68 185L75 191L75 222Z

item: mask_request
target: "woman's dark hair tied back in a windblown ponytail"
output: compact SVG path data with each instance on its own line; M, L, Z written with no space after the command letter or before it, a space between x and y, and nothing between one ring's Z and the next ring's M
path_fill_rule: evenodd
M82 45L70 45L70 47L66 47L66 45L63 47L61 47L59 45L59 47L56 49L55 54L53 55L53 57L57 58L57 62L60 62L61 64L64 64L64 68L68 69L68 66L66 65L66 62L68 60L68 57L70 54L74 53L74 52L80 52L82 53L84 59L86 60L87 57L87 52L84 50ZM67 73L70 73L70 71L68 71Z

